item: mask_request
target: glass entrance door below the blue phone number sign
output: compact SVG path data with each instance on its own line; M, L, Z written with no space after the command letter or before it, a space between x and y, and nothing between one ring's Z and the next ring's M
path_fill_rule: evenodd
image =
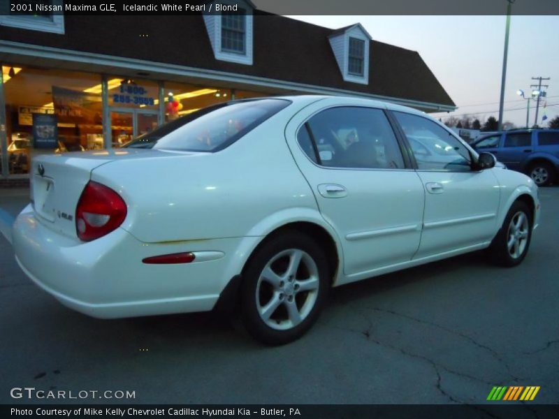
M122 147L133 140L157 128L158 116L144 110L117 109L110 112L110 132L113 148Z

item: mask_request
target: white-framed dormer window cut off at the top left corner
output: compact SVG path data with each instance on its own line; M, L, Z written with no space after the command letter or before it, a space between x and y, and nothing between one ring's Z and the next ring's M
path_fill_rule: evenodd
M62 0L29 0L13 4L2 2L0 25L64 34L63 8Z

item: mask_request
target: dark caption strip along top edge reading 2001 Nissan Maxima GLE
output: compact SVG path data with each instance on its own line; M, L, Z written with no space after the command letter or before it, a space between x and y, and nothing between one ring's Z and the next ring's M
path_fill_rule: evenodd
M558 0L253 0L255 14L276 15L505 15L508 2L512 15L559 15ZM47 5L48 0L2 0L12 5ZM64 15L194 15L216 13L217 1L208 0L57 0ZM213 4L211 4L213 3ZM242 0L228 0L246 8ZM164 10L163 5L172 7ZM220 3L221 4L221 3ZM188 6L188 7L187 7ZM203 6L196 10L194 6ZM40 10L39 10L40 11ZM60 13L60 12L54 12ZM218 12L219 13L219 12ZM451 35L451 34L449 34Z

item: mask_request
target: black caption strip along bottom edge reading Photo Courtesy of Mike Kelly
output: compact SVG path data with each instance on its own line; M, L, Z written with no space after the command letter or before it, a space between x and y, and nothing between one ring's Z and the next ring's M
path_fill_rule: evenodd
M87 411L89 409L89 411ZM92 413L92 411L95 413ZM27 404L2 405L2 418L212 418L212 419L314 419L314 418L559 418L559 406L544 404L300 404L300 405L153 405L153 404ZM69 414L68 414L69 413Z

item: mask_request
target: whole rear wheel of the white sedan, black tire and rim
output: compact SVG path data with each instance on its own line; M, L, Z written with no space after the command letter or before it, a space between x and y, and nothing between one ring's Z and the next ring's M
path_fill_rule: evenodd
M268 345L303 336L317 321L331 284L324 250L295 230L263 242L242 276L240 320L249 335Z

